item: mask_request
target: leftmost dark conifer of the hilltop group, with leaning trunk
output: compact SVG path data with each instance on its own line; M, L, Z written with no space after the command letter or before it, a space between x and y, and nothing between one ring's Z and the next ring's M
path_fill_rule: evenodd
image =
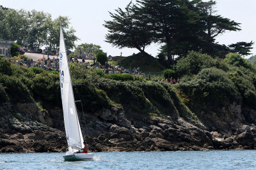
M153 32L143 13L134 4L129 3L125 10L118 8L111 13L113 20L105 21L104 27L109 29L106 42L120 48L136 48L145 52L145 46L152 43Z

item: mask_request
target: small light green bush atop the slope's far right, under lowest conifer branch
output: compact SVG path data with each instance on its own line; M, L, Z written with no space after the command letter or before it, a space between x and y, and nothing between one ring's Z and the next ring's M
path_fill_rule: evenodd
M243 59L241 55L237 53L228 53L226 55L225 62L233 66L242 66L248 69L252 69L252 64L250 64L246 59Z

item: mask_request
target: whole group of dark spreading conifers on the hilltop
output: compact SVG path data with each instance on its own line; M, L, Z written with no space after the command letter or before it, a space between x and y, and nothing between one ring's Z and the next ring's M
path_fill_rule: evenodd
M252 41L232 45L216 42L216 37L226 31L241 29L239 23L218 15L215 5L215 1L202 0L138 0L125 10L110 12L112 20L104 24L109 29L106 41L140 52L150 43L161 43L159 59L166 58L169 64L192 50L220 58L229 52L249 55Z

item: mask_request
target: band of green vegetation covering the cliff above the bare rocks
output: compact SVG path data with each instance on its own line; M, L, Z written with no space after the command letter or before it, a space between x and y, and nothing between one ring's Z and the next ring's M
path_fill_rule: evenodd
M140 53L136 59L138 56L143 59ZM122 60L128 62L129 57ZM28 69L5 59L0 60L0 66L1 102L32 101L40 110L44 110L45 104L61 106L58 71ZM123 108L129 117L141 120L170 116L197 122L203 118L202 111L220 112L233 102L256 109L256 67L236 53L218 59L189 52L178 60L174 69L165 69L159 74L159 78L181 75L180 83L175 85L151 81L149 77L145 80L143 76L104 74L101 69L79 63L70 63L70 73L75 99L82 101L88 113L114 106ZM77 104L77 108L81 109L81 104Z

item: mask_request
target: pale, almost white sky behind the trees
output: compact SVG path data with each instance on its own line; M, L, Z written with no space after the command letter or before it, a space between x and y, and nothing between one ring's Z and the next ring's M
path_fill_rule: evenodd
M135 48L116 48L104 40L108 33L102 24L104 20L111 20L109 11L115 12L117 8L124 9L131 0L0 0L0 5L13 8L15 10L36 10L50 13L52 18L58 16L68 16L71 26L76 30L76 36L80 39L76 45L81 43L93 43L100 45L108 55L129 56L138 53ZM135 0L132 0L133 2ZM235 22L241 23L241 31L225 32L216 38L220 44L230 45L238 41L253 41L252 53L256 55L256 20L255 8L256 0L216 0L217 14L222 17L230 18ZM145 51L153 56L159 53L161 44L148 46ZM251 56L251 55L250 55ZM250 57L248 56L248 57ZM247 57L246 57L247 58Z

